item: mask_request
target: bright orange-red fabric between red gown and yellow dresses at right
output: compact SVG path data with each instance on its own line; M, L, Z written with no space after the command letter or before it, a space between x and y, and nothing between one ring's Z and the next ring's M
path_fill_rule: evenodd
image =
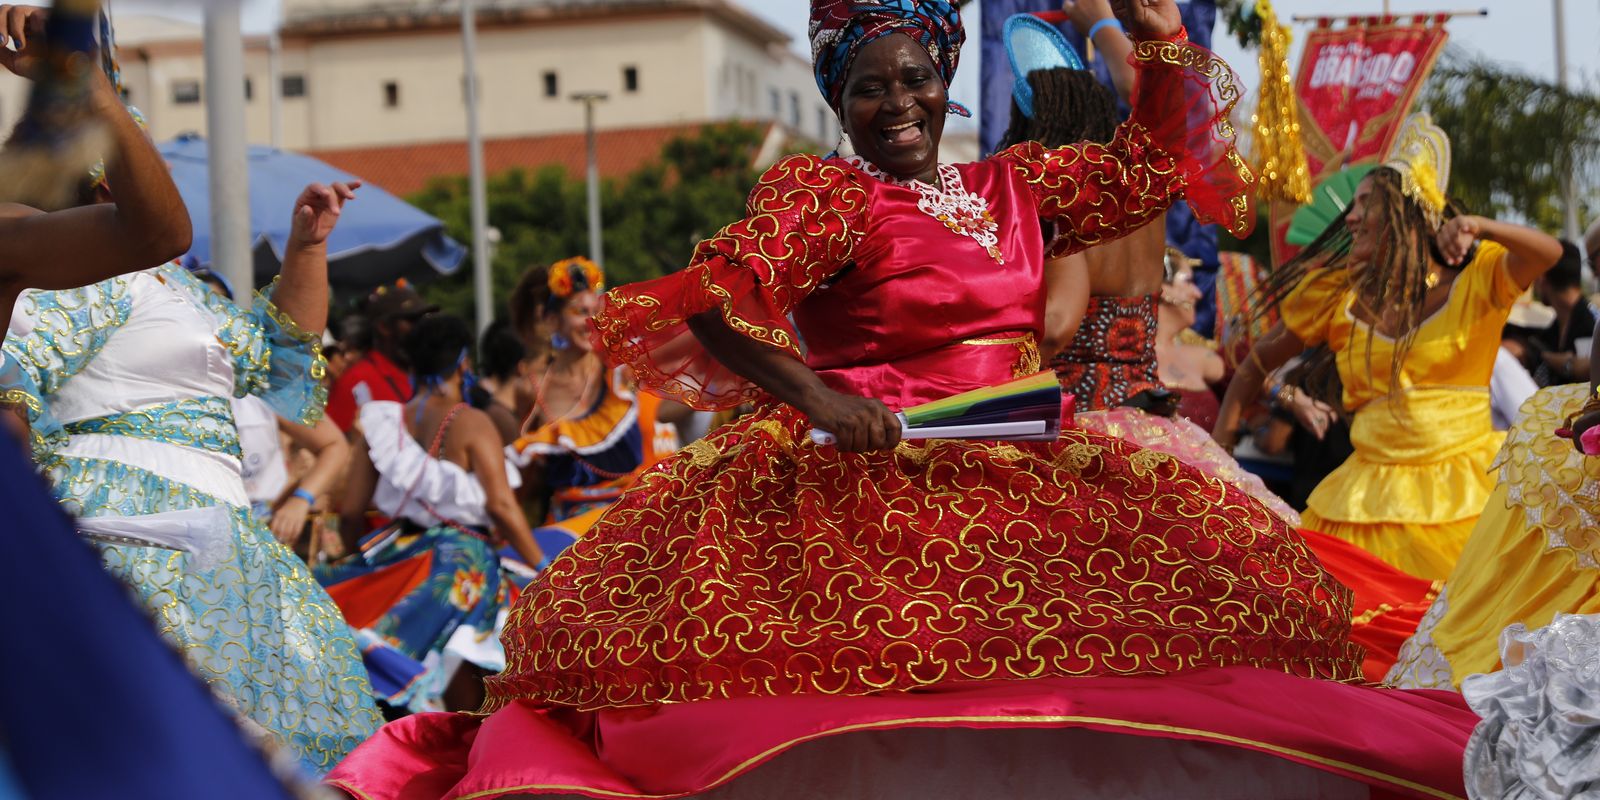
M1366 648L1362 674L1382 682L1400 658L1400 645L1416 632L1438 582L1406 574L1376 555L1344 541L1301 530L1322 565L1355 595L1350 642Z

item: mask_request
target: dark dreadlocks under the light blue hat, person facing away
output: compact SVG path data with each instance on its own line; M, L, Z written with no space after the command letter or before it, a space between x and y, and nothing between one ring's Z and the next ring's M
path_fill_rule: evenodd
M1082 69L1038 69L1029 72L1034 86L1034 118L1011 101L1011 128L1000 147L1035 141L1045 147L1072 142L1109 142L1117 136L1117 96L1093 72Z

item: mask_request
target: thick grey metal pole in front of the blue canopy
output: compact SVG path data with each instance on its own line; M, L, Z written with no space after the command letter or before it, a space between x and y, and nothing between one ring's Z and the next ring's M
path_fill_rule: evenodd
M245 144L245 40L238 0L205 6L206 168L211 179L211 269L250 307L256 286L250 256L250 162ZM288 210L285 210L288 211Z

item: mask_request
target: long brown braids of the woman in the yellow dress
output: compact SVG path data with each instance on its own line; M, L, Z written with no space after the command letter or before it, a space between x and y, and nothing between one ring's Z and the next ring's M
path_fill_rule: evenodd
M1342 270L1339 280L1355 296L1355 304L1371 322L1371 330L1382 333L1386 325L1394 325L1392 333L1389 333L1395 342L1389 374L1398 376L1405 357L1416 341L1418 328L1422 325L1429 264L1437 261L1446 269L1461 269L1466 264L1450 266L1445 262L1434 242L1434 226L1429 224L1422 206L1402 192L1400 173L1389 166L1379 166L1368 174L1366 181L1371 181L1373 186L1366 200L1366 213L1368 216L1376 214L1382 221L1371 261L1350 261L1350 232L1344 224L1344 218L1349 214L1347 206L1301 254L1272 270L1253 298L1251 307L1256 309L1254 314L1264 315L1288 298L1312 270ZM1448 205L1445 210L1446 219L1458 213L1454 205ZM1354 334L1352 330L1350 336L1354 338ZM1373 339L1368 338L1368 374L1371 374L1371 368ZM1326 374L1330 371L1334 374ZM1317 358L1307 358L1298 382L1312 397L1334 408L1342 408L1338 365L1331 350ZM1398 389L1400 381L1392 379L1389 394L1397 395Z

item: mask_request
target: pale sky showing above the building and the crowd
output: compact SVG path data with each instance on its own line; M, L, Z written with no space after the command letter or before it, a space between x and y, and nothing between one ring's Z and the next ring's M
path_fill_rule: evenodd
M488 5L493 0L480 0ZM798 51L805 42L806 0L733 0L794 37ZM976 8L973 3L971 8ZM1382 0L1277 0L1282 19L1293 14L1346 13L1376 14ZM114 13L158 13L168 16L197 18L202 0L112 0ZM1486 18L1462 18L1450 24L1451 42L1469 50L1542 77L1555 75L1555 27L1552 0L1392 0L1397 14L1418 11L1442 11L1458 8L1488 8ZM1566 8L1566 59L1571 80L1600 91L1600 2L1568 0ZM278 0L245 0L245 27L250 32L270 29L278 16ZM955 78L955 98L976 106L978 102L978 13L966 14L968 40L973 42ZM1293 26L1304 32L1306 26ZM1299 38L1290 62L1299 62ZM1245 53L1224 32L1218 32L1216 50L1238 70L1248 86L1259 78L1254 53ZM1245 101L1253 107L1253 99Z

